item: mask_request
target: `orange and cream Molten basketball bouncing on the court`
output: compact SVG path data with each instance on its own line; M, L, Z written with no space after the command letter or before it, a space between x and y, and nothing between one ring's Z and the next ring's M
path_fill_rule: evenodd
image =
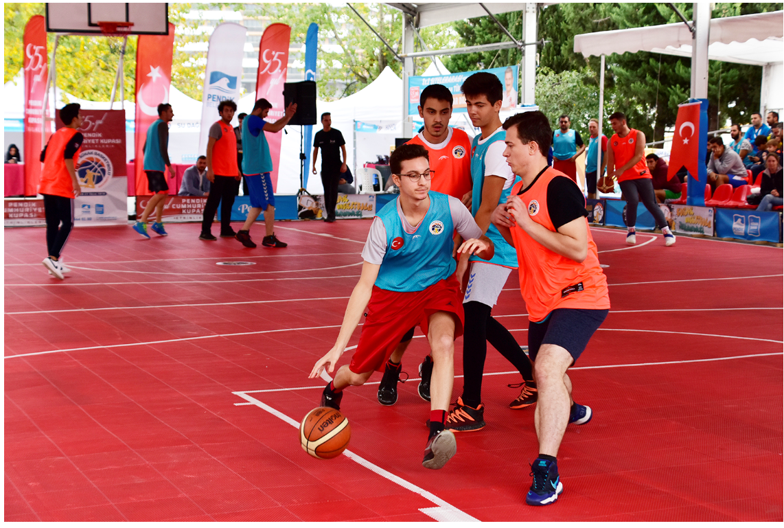
M348 446L351 426L339 410L316 407L299 424L299 442L311 457L335 458Z

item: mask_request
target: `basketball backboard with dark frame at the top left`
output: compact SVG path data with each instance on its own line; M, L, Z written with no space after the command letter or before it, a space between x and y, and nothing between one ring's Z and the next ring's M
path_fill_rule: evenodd
M100 22L129 22L128 35L169 35L168 3L46 4L46 31L71 35L101 35Z

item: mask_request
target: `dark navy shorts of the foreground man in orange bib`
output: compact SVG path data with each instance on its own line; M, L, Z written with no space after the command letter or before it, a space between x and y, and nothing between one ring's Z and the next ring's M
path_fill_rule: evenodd
M528 355L535 361L543 344L565 348L577 361L609 310L557 308L542 322L528 322ZM572 362L573 363L573 362Z

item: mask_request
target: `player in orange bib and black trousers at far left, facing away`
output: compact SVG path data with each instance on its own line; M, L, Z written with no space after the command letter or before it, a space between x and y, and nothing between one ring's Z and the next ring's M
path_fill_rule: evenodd
M81 107L66 104L60 108L60 120L65 126L49 138L49 143L41 153L44 164L38 193L44 197L46 215L46 249L49 256L42 264L57 279L65 279L67 271L60 262L60 253L74 227L74 198L82 194L76 177L74 159L78 160L84 137L79 132L82 126Z

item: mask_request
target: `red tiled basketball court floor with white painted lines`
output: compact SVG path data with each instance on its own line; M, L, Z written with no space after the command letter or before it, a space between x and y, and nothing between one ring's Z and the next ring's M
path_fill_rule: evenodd
M524 504L533 409L508 408L519 375L490 346L488 426L457 433L445 468L422 467L419 330L397 404L376 401L380 373L348 388L348 450L308 456L297 427L326 381L307 375L337 337L369 226L280 223L286 249L203 242L198 224L151 240L76 228L64 281L41 264L42 228L5 229L5 521L782 521L770 246L665 248L642 232L626 246L592 229L612 309L570 370L593 420L567 428L552 505ZM525 313L513 273L493 315L521 345Z

